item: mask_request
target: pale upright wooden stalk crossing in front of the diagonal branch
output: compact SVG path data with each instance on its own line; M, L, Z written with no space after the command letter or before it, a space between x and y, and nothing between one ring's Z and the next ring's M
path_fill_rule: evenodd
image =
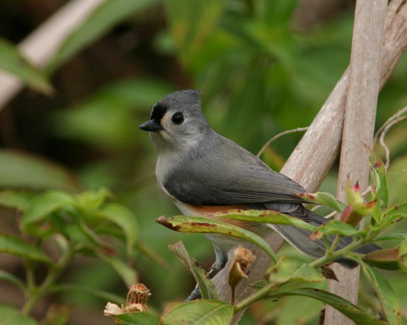
M359 181L363 192L368 185L369 163L364 143L373 144L377 95L380 87L380 67L387 0L357 0L352 40L349 86L346 96L336 197L346 201L345 183ZM335 219L339 219L336 214ZM339 281L329 280L328 291L357 304L359 267L346 269L335 263L331 266ZM326 325L351 325L350 318L326 305Z

